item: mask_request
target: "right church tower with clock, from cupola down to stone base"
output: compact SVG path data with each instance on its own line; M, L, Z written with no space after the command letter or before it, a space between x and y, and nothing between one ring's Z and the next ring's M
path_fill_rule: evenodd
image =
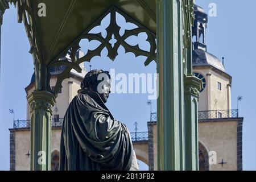
M242 122L231 107L232 77L220 61L208 52L208 15L195 5L192 30L193 75L203 81L199 98L200 170L242 170ZM214 35L213 35L214 36ZM209 163L209 159L215 162ZM214 161L213 160L213 161Z

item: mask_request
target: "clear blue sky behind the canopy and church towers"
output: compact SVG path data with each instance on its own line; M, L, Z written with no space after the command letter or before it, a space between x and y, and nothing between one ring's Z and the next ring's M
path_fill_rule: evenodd
M246 0L234 3L232 0L197 0L197 5L209 11L209 3L216 3L217 16L209 17L207 27L208 52L219 59L225 57L226 72L232 79L232 106L237 107L237 97L243 96L240 102L240 115L243 122L243 169L256 169L255 149L256 122L255 119L255 20L254 7L256 1ZM143 39L143 36L142 36ZM13 115L9 109L14 109L15 119L26 119L26 92L33 73L32 56L28 53L30 46L24 30L24 25L17 23L14 7L7 10L2 26L1 47L1 82L0 82L0 170L9 170L9 128L13 127ZM119 50L117 59L112 62L108 57L94 57L90 64L93 69L115 68L122 73L155 73L156 65L151 63L144 67L144 57L133 53L123 53ZM86 69L89 64L85 63ZM139 123L139 131L147 131L147 121L150 119L150 106L146 105L146 94L112 94L108 107L114 117L126 123L131 132L134 122ZM156 102L152 102L152 110ZM143 166L144 168L144 166Z

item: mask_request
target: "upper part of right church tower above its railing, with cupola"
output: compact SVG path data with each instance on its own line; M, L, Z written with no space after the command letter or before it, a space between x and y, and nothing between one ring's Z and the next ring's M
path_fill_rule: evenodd
M225 71L224 60L207 51L205 31L208 16L200 6L195 6L193 36L193 74L203 81L200 92L199 111L231 109L232 77ZM223 58L224 59L224 58Z

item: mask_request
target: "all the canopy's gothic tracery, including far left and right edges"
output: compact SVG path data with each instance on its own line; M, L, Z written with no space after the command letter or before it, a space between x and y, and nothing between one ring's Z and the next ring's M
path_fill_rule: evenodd
M31 9L28 1L26 0L9 0L11 3L18 9L18 22L24 22L24 26L26 28L28 40L31 44L30 53L34 56L35 61L35 76L38 77L36 80L40 80L42 76L42 70L39 70L39 66L36 64L42 64L42 55L40 55L40 46L38 44L35 22L32 22L33 17L31 16ZM182 2L182 9L183 9L183 57L184 57L184 73L187 73L187 52L191 40L191 26L193 24L193 2L194 0L185 0ZM117 15L123 16L125 18L126 23L130 23L134 25L134 28L125 29L122 34L122 27L117 23ZM110 16L110 22L108 27L105 27L105 36L102 36L102 32L92 32L93 29L96 27L101 26L102 20L106 17ZM148 51L141 49L138 44L131 45L127 43L126 39L130 38L131 36L138 36L140 33L146 33L147 39L146 41L150 44L150 48ZM81 49L80 42L82 40L87 39L89 42L97 41L100 44L98 47L94 49L88 49L88 52L83 57L76 57L77 51ZM70 44L63 52L59 54L54 60L50 61L48 65L46 65L46 69L48 72L48 77L46 80L46 87L49 92L52 92L55 97L61 88L61 82L69 77L69 72L71 69L75 69L77 72L81 72L81 68L79 66L80 63L84 61L90 61L94 56L100 56L101 51L106 48L108 50L108 57L111 60L114 60L115 57L118 55L118 48L122 46L125 48L125 52L133 52L135 56L145 56L146 61L144 61L144 65L148 65L151 63L152 60L156 61L156 35L154 32L151 32L121 10L117 9L117 7L110 7L106 13L102 14L100 18L98 18L92 26L86 29L72 44ZM66 55L69 54L69 58ZM63 59L64 57L64 59ZM65 67L64 71L57 75L57 82L55 85L55 90L51 90L49 86L49 70L51 67L61 66ZM41 85L42 81L38 81L38 88L39 90L43 88Z

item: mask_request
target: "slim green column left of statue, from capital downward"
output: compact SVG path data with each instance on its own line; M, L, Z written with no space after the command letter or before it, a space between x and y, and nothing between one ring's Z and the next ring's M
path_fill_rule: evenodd
M35 90L27 97L31 112L31 170L51 170L51 115L55 98L47 91Z

